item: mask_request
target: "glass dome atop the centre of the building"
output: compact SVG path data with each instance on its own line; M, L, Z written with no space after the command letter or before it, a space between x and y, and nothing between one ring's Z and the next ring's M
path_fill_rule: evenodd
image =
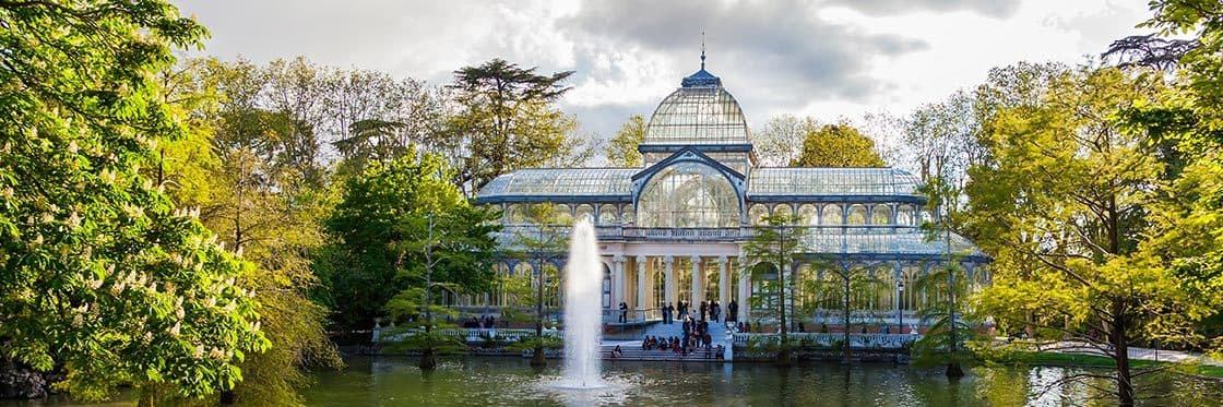
M714 79L704 70L685 78L685 87L658 104L641 144L751 144L744 110Z

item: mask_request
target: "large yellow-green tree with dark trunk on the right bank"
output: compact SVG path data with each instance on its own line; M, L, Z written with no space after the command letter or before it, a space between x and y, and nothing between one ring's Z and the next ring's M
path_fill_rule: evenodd
M1082 67L1055 78L1040 104L994 116L986 137L996 163L971 169L967 189L975 219L1013 231L998 249L1040 262L1032 280L982 292L985 309L1010 320L1033 313L1026 323L1112 358L1121 405L1135 402L1134 378L1145 374L1130 364L1135 340L1192 340L1183 326L1150 315L1191 320L1208 307L1188 296L1181 276L1140 251L1163 167L1145 150L1148 134L1124 131L1117 114L1161 89L1158 76L1117 68Z

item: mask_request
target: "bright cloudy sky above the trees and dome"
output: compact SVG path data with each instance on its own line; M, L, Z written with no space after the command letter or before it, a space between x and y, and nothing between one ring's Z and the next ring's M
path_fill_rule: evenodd
M401 1L180 0L207 54L305 55L445 83L503 57L576 71L563 100L588 132L648 115L700 67L756 128L778 114L904 114L1015 61L1077 64L1150 12L1146 0Z

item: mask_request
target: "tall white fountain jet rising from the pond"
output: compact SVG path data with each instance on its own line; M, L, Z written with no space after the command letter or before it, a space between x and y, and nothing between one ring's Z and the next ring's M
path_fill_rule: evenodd
M574 226L565 263L565 368L569 386L602 387L603 262L589 218Z

